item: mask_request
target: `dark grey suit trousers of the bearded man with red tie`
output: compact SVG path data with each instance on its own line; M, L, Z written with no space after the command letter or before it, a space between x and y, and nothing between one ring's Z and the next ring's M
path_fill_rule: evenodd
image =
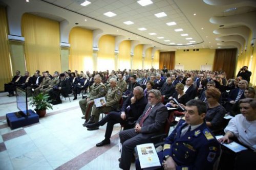
M119 133L122 143L121 161L119 167L129 170L131 167L131 159L136 145L151 142L152 134L136 133L134 129L128 129Z

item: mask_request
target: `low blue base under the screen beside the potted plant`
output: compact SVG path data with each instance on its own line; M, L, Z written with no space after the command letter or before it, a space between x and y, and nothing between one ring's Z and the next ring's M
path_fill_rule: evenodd
M7 123L11 129L24 127L39 122L39 116L33 110L28 110L28 116L17 117L15 113L16 112L6 114Z

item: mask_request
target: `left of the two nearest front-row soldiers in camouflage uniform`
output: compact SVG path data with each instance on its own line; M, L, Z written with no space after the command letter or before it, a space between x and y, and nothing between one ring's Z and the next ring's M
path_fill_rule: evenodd
M82 114L84 115L82 116L82 118L86 119L84 125L88 122L91 116L94 99L101 98L106 93L106 88L104 84L101 82L101 77L99 75L96 75L94 76L93 80L94 84L90 86L90 91L87 95L87 98L79 101L79 106L82 110Z

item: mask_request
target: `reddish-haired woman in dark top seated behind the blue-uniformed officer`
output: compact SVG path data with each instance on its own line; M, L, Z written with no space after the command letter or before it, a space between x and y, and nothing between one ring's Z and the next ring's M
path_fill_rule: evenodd
M205 115L206 125L211 130L222 130L224 116L226 114L225 108L219 103L221 92L219 89L211 87L205 90L205 97L207 100L207 112Z

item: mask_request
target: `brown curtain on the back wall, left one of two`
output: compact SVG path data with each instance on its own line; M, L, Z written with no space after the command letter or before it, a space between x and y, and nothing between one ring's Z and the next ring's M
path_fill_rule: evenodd
M163 66L167 69L174 69L175 52L160 52L159 55L159 69L163 69Z

